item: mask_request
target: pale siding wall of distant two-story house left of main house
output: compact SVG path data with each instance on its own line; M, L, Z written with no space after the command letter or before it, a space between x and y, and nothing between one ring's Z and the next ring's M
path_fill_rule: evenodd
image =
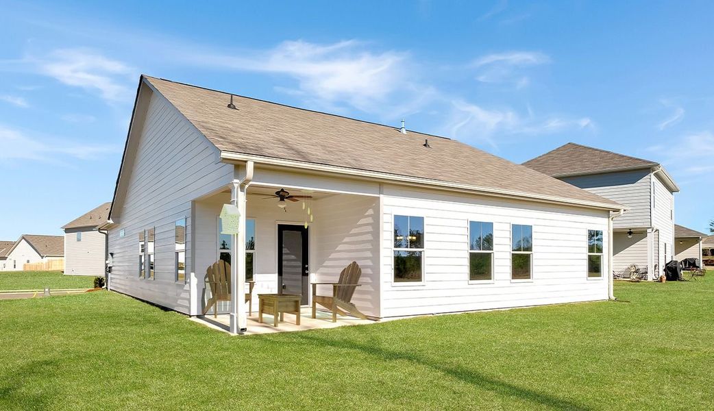
M81 241L77 241L77 233ZM104 277L106 237L97 230L67 229L64 233L64 273Z

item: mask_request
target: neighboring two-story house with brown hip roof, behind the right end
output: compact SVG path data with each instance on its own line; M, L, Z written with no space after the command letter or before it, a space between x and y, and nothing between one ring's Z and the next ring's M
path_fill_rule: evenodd
M653 279L672 260L679 187L659 163L568 143L523 165L629 208L613 220L613 270L636 264Z

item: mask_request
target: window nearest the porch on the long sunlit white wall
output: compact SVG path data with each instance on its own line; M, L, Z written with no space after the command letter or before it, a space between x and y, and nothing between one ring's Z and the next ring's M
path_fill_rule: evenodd
M424 278L424 218L394 216L394 282L420 283Z

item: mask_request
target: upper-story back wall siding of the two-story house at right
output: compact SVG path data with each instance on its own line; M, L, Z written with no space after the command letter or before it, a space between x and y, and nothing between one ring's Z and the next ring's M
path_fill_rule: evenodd
M568 177L562 178L562 180L590 191L590 193L628 206L629 210L613 220L613 228L636 228L652 225L650 223L651 173L649 169Z

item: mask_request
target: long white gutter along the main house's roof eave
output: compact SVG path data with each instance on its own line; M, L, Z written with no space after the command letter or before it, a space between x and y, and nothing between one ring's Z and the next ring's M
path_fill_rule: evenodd
M284 160L281 158L271 158L254 156L251 154L233 153L231 151L221 151L221 160L226 163L258 161L269 166L280 166L288 168L301 168L308 171L318 171L324 173L336 173L352 177L374 178L380 181L395 181L398 183L413 184L417 186L433 186L434 188L449 189L452 191L470 191L485 196L518 198L525 201L538 201L540 203L555 203L560 205L579 205L585 208L597 208L611 211L626 210L623 206L608 203L598 203L596 201L575 200L570 198L560 198L556 196L546 196L544 194L523 193L521 191L506 190L503 188L490 188L473 186L471 184L452 183L449 181L433 180L431 178L421 178L412 176L401 176L398 174L379 173L375 171L359 170L339 166L328 166L326 164L307 163L304 161Z

